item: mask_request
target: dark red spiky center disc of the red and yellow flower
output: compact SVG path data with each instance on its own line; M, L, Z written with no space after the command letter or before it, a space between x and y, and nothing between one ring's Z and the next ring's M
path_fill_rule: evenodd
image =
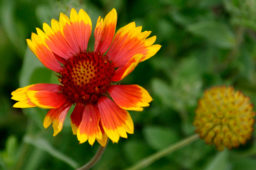
M114 71L107 56L87 51L73 55L63 67L58 79L63 84L61 92L74 104L97 101L106 92Z

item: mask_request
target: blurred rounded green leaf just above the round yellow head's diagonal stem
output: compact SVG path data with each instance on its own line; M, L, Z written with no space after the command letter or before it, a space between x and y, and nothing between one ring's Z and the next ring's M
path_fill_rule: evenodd
M161 150L178 141L177 133L164 127L145 127L143 134L147 143L155 150Z

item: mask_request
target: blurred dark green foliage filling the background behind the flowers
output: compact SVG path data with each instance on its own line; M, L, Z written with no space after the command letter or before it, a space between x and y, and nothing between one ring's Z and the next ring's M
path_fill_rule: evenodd
M16 109L10 100L19 87L58 83L26 39L35 27L58 20L60 12L69 16L72 8L84 9L94 27L99 16L116 8L117 29L135 21L162 45L121 82L143 86L154 101L142 112L130 112L134 134L110 142L93 170L125 169L193 134L197 101L211 86L234 86L256 103L256 0L1 0L0 169L71 170L99 147L79 144L69 115L53 137L52 127L43 127L46 109ZM91 49L93 43L92 35ZM145 170L254 170L255 156L255 133L245 146L222 153L198 140Z

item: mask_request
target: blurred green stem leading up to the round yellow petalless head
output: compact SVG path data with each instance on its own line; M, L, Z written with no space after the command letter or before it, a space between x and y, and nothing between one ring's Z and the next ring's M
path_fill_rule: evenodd
M178 141L177 143L172 144L171 146L163 150L160 150L159 152L154 153L151 156L148 156L147 158L144 158L143 160L134 164L132 167L129 167L128 169L125 169L125 170L140 170L144 167L147 167L148 165L154 163L155 161L162 158L163 156L166 156L169 153L172 153L182 147L187 146L188 144L191 144L192 142L196 141L198 138L199 138L199 135L195 134L188 138L183 139L182 141Z

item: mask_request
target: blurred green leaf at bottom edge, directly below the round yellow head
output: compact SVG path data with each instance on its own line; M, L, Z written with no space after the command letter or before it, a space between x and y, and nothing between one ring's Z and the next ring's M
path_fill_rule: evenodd
M228 151L219 152L212 161L209 162L205 170L229 170Z

